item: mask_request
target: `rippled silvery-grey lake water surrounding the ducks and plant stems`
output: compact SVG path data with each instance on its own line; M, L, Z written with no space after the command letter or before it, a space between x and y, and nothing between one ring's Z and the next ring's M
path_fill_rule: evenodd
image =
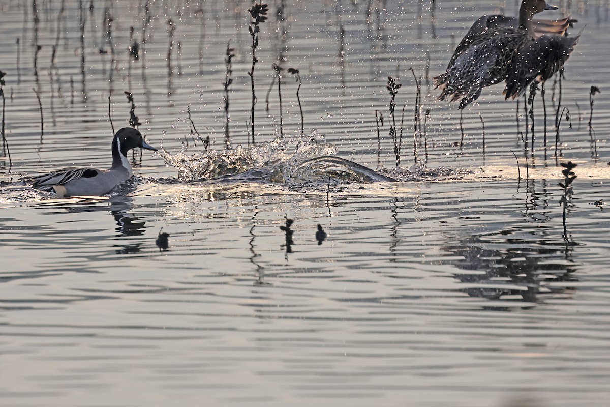
M107 167L110 90L115 129L128 125L123 92L131 91L140 130L163 151L145 152L141 164L137 154L137 175L107 197L57 200L21 183L1 187L1 405L608 405L610 218L594 204L609 199L608 2L558 4L571 7L575 31L585 27L562 81L572 128L562 124L561 161L579 165L565 222L552 84L547 159L538 99L526 173L515 103L498 87L464 111L460 143L456 106L434 101L423 78L429 157L414 166L409 67L423 76L428 51L430 75L442 71L451 34L456 43L495 11L486 2L440 2L432 26L429 2L390 1L379 29L377 2L368 26L367 2L288 2L284 45L274 16L262 26L254 147L245 124L249 4L204 1L202 15L199 2L151 2L142 45L145 2L96 2L93 14L84 3L84 76L78 1L38 2L37 33L31 3L0 3L12 156L2 181L62 165ZM498 4L515 14L515 2ZM127 51L131 26L146 51L138 60ZM237 54L235 149L224 153L228 40ZM296 82L286 74L290 137L278 142L277 88L268 115L264 99L282 46L282 65L303 79L306 135L298 136ZM406 104L400 170L387 118L377 153L375 109L386 115L387 76L403 83L397 112ZM595 143L587 126L594 85ZM211 156L190 134L187 107L210 136ZM525 133L523 102L519 115ZM423 159L423 142L417 154ZM169 234L167 250L160 233Z

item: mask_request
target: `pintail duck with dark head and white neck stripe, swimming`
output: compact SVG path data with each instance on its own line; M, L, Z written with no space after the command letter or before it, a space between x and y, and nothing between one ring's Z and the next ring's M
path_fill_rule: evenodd
M147 144L142 134L132 128L120 129L112 139L112 167L108 170L97 168L62 168L52 173L32 177L32 187L46 192L54 192L60 198L66 196L106 195L121 182L131 178L132 170L127 152L132 148L157 151Z

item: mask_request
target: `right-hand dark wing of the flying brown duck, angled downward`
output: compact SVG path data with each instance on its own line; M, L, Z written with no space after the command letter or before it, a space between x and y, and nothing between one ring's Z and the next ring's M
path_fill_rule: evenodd
M578 43L576 37L542 35L523 46L511 61L506 76L504 97L523 95L531 82L544 82L563 68Z

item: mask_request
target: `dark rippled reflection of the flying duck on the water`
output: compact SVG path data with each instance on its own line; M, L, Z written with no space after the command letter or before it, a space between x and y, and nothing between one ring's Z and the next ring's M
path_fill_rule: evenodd
M478 272L454 272L467 285L461 291L470 297L539 303L542 296L574 289L565 283L578 281L575 267L570 267L576 245L573 240L559 240L547 228L515 228L467 237L444 249L462 258L453 263L455 267Z

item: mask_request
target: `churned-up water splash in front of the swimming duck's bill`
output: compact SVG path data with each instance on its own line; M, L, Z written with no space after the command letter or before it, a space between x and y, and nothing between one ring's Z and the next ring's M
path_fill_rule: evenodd
M336 146L324 143L324 136L312 132L309 137L284 137L248 148L211 150L177 154L160 149L165 164L178 170L179 181L274 182L307 184L328 178L344 182L392 182L413 180L458 179L464 171L449 167L371 170L364 165L337 157Z

